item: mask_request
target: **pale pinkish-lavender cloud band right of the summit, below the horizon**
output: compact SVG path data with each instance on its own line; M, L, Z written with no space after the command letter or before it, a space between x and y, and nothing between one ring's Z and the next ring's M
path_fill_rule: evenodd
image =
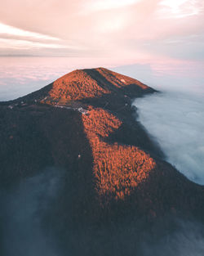
M204 62L150 62L122 65L113 70L140 80L161 92L188 92L204 95Z

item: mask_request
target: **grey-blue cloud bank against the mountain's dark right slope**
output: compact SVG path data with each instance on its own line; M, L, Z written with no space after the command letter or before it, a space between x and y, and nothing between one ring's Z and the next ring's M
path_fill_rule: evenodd
M203 97L162 92L136 99L139 120L158 141L166 159L193 182L204 185Z

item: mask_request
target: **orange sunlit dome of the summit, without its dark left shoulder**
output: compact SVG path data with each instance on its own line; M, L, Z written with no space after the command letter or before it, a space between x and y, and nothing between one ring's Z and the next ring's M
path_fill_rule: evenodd
M138 92L149 88L136 79L100 67L74 70L65 74L60 79L55 80L48 94L54 100L80 101L118 92L118 90L130 85L134 86Z

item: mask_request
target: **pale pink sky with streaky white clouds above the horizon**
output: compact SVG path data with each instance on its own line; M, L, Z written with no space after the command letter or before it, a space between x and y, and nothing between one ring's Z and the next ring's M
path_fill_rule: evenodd
M0 56L203 61L202 0L7 0Z

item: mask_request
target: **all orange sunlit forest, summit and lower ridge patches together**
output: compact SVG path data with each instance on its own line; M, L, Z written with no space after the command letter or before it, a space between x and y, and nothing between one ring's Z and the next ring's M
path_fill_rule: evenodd
M48 92L49 97L42 102L64 108L73 106L73 109L78 110L79 102L86 99L100 101L106 94L115 97L117 93L124 98L121 90L129 86L133 86L135 92L145 92L149 88L135 79L104 68L75 70L57 79ZM109 101L106 105L109 105ZM112 199L124 200L149 176L156 164L139 147L104 141L104 137L109 137L110 133L122 126L122 119L118 119L111 110L87 104L82 107L87 111L86 115L82 115L82 124L91 145L95 190L99 199L104 201L105 198L106 202Z

